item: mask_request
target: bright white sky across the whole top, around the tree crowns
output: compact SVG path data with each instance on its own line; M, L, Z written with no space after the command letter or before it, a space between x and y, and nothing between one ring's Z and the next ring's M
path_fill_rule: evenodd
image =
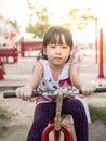
M31 0L37 1L37 0ZM54 18L53 22L57 22L58 17L64 16L69 9L74 7L93 7L95 15L101 14L102 10L105 8L104 0L38 0L42 4L50 8L53 12ZM100 4L101 2L101 4ZM106 10L105 10L106 11ZM101 17L104 17L106 12L101 14ZM26 0L0 0L0 13L3 14L5 18L17 20L18 24L24 26L27 24L27 2ZM104 23L101 21L101 23ZM106 23L106 22L105 22Z

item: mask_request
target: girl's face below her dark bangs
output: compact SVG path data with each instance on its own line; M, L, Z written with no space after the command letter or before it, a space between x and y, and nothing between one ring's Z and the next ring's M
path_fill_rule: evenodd
M50 64L63 66L70 55L70 47L66 44L63 36L63 44L48 44L47 48L43 48L43 53L47 55Z

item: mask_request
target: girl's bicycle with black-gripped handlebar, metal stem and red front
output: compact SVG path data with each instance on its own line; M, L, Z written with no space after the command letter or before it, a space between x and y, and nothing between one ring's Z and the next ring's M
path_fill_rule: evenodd
M38 97L42 95L42 93L50 93L49 91L34 91L31 97ZM106 88L96 88L94 93L96 92L106 92ZM53 91L52 91L53 93ZM15 92L4 92L3 93L4 98L16 98ZM61 140L61 132L64 134L64 141L74 141L74 136L72 132L69 130L69 128L62 124L62 116L61 116L61 111L62 111L62 103L63 103L63 90L58 90L57 94L57 104L56 104L56 116L54 118L53 123L50 123L45 129L42 132L41 141L49 141L49 134L51 131L54 131L54 141L59 141Z

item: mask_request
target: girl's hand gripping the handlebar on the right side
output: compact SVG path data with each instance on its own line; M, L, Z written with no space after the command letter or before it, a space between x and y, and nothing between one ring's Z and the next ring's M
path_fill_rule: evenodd
M83 95L92 94L96 90L96 85L94 82L84 82L81 86L81 92Z

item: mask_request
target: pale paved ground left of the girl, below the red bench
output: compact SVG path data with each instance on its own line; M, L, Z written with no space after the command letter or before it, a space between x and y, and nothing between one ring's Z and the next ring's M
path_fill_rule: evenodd
M0 80L0 87L23 86L30 77L36 59L19 57L15 64L6 64L4 79Z

